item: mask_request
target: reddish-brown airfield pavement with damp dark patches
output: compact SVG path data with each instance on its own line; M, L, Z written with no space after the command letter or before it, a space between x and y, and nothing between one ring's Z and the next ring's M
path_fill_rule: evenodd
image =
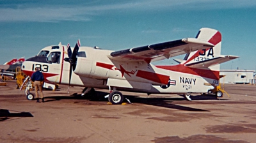
M256 86L225 84L223 98L123 92L132 105L108 105L108 90L44 90L27 100L15 82L0 87L0 142L256 142ZM35 93L35 91L31 91Z

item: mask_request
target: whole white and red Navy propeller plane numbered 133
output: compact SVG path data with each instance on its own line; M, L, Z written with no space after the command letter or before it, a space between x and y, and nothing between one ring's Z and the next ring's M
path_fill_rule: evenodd
M22 64L22 71L31 76L39 67L45 82L82 86L84 93L93 88L109 89L108 99L120 104L120 91L139 93L185 94L208 93L219 84L220 63L236 59L223 56L221 33L202 28L196 38L156 43L125 50L103 50L81 47L79 40L71 50L57 45L42 49ZM186 54L172 66L155 66L153 61Z

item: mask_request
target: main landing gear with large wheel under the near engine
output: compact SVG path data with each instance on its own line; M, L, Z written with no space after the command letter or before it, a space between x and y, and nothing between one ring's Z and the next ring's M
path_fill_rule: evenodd
M113 87L113 90L109 86L109 94L105 96L105 98L108 98L108 101L112 104L122 104L124 99L127 100L127 102L131 103L129 99L125 98L122 93L119 91L116 91L116 87Z

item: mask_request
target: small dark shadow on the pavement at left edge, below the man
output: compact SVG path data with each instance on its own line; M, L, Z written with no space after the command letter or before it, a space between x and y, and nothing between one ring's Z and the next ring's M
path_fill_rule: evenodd
M33 117L33 115L29 112L10 113L9 110L0 109L0 121L5 121L9 117Z

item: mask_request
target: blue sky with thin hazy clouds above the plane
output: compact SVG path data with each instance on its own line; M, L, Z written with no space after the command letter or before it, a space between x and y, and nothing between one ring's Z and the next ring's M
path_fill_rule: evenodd
M221 69L256 70L254 0L0 0L0 13L0 64L60 41L74 46L79 38L81 46L122 50L195 37L211 27L222 34L221 54L240 56Z

